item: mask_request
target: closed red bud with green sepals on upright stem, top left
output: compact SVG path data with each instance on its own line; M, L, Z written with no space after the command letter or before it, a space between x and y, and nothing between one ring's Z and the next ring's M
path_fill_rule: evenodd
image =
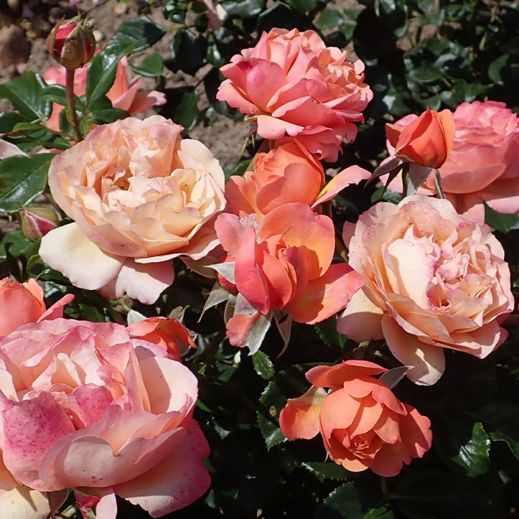
M47 37L49 54L66 69L88 63L95 52L95 38L84 23L61 20Z

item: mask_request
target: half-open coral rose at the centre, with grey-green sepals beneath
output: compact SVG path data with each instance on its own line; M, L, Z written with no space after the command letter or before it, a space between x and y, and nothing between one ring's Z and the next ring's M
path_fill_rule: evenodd
M227 261L236 262L236 289L263 315L284 309L297 322L314 324L342 310L362 286L346 263L331 264L333 222L304 203L272 209L261 224L221 214L215 227Z

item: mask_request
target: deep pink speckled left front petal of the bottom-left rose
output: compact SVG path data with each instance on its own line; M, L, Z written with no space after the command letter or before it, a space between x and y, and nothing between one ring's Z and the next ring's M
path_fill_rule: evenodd
M13 403L2 413L4 463L11 474L31 488L48 490L38 468L58 440L75 431L60 405L42 392L36 398Z

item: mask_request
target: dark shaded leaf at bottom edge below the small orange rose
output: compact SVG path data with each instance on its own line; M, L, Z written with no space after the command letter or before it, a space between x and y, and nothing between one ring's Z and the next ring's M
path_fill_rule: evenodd
M375 488L348 482L324 499L315 519L394 519L384 501Z

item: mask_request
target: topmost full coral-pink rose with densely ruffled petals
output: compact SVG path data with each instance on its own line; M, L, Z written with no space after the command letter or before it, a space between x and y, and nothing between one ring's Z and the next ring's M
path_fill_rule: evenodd
M373 98L364 64L346 57L315 31L272 29L222 67L227 80L216 97L247 114L263 138L297 136L310 153L334 162Z

